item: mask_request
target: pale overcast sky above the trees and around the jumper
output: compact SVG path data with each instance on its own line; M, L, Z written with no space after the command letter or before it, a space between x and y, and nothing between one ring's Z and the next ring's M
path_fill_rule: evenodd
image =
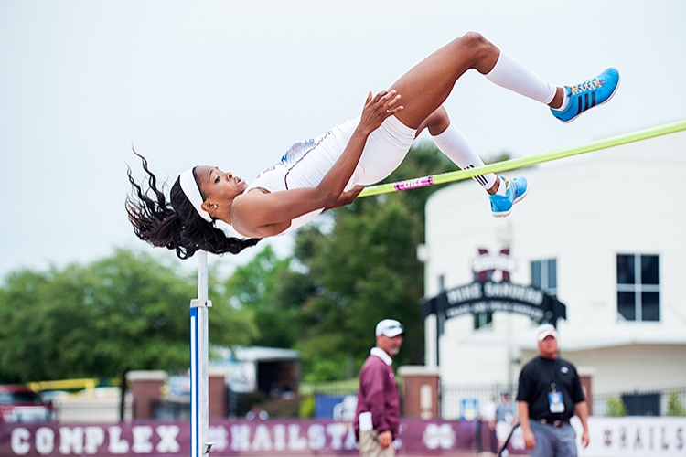
M123 207L126 166L143 176L132 144L169 184L201 164L251 181L469 30L556 85L622 74L613 101L563 124L467 73L446 107L484 156L686 119L684 24L681 0L0 0L0 277L153 251Z

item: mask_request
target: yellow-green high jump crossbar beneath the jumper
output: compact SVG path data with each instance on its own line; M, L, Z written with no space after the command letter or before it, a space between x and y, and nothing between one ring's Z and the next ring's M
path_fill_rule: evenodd
M457 170L454 172L442 173L439 175L429 175L408 179L406 181L398 181L395 183L380 184L377 186L365 187L360 192L358 197L369 197L379 194L388 194L391 192L398 192L401 190L415 189L418 187L435 186L437 184L445 184L453 181L467 179L477 175L486 175L488 173L499 173L523 166L531 166L542 164L543 162L551 162L552 160L563 159L565 157L572 157L573 155L592 153L600 149L607 149L615 147L620 144L635 143L648 138L655 138L670 133L677 133L686 130L686 120L679 122L671 122L657 127L651 127L638 132L625 133L605 140L598 140L592 143L586 143L579 146L572 146L556 151L550 151L542 154L530 155L528 157L520 157L517 159L505 160L495 164L479 166L477 168L469 168L466 170Z

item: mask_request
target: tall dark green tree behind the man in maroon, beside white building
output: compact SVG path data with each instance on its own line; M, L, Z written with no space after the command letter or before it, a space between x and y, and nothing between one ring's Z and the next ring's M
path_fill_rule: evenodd
M420 143L389 181L451 169L455 165L433 145ZM288 279L305 295L299 347L305 379L356 377L374 345L374 325L386 317L406 329L398 363L423 363L423 265L416 248L423 242L426 198L436 189L358 198L328 215L331 231L310 226L297 233L294 260L301 268Z

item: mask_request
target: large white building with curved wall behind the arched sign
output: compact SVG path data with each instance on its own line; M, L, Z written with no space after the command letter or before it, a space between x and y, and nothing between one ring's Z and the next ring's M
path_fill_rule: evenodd
M490 215L474 182L429 199L425 297L473 282L478 249L509 248L511 282L566 305L561 356L591 377L595 395L686 386L686 133L505 175L530 183L509 218ZM537 325L521 314L466 314L437 336L433 314L426 365L444 384L516 383L536 355Z

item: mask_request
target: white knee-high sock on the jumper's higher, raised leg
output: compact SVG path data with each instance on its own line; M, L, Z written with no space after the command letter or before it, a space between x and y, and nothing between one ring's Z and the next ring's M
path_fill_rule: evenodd
M491 82L505 89L513 90L535 101L541 101L546 105L552 101L557 88L552 84L541 80L508 54L500 51L500 56L495 67L486 75Z

